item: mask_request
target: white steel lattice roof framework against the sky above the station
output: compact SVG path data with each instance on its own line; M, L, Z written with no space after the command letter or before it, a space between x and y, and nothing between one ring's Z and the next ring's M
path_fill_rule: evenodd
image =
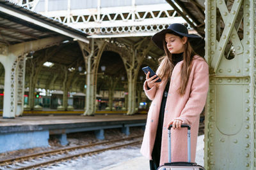
M108 5L104 4L104 1L95 1L84 6L81 4L83 7L80 7L72 4L73 1L65 3L66 1L60 0L60 8L50 6L49 0L12 1L70 27L81 29L92 38L152 36L172 23L186 23L186 20L164 1L109 1Z

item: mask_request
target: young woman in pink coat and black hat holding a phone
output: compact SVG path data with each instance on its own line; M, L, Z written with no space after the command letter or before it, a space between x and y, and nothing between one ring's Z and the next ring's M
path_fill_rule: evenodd
M200 113L204 109L209 87L208 65L197 55L189 41L202 38L188 34L182 24L172 24L152 36L154 43L164 50L159 59L156 76L147 73L145 94L152 104L148 110L147 125L141 153L150 160L150 169L168 162L168 126L172 128L172 162L188 161L187 129L191 125L191 161L195 162L196 139Z

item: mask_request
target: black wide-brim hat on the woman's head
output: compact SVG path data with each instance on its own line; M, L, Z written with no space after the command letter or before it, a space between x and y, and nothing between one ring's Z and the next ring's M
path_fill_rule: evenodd
M174 33L179 34L180 36L186 36L188 37L188 41L191 44L191 46L195 47L196 44L202 43L204 39L196 34L189 34L188 29L185 25L182 24L171 24L168 26L167 29L163 29L160 32L157 32L152 36L152 41L162 50L164 50L163 41L165 39L166 33ZM196 44L195 44L196 43ZM195 50L195 49L194 49Z

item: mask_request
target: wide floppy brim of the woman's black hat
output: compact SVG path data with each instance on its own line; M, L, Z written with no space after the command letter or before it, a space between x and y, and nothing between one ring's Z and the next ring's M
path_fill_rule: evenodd
M189 43L191 43L192 46L195 45L195 43L204 41L202 37L197 36L195 34L184 34L182 32L173 31L172 29L163 29L162 31L154 34L154 36L152 36L151 39L161 50L164 50L164 46L163 46L163 39L165 38L164 36L166 33L173 33L173 32L181 36L188 37L188 41Z

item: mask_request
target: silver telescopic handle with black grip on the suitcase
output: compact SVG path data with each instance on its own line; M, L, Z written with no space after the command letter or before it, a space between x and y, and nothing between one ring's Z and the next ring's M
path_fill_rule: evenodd
M190 140L190 125L182 124L181 127L188 128L188 162L191 162L191 140ZM172 142L171 142L171 129L172 125L168 127L168 162L172 162Z

